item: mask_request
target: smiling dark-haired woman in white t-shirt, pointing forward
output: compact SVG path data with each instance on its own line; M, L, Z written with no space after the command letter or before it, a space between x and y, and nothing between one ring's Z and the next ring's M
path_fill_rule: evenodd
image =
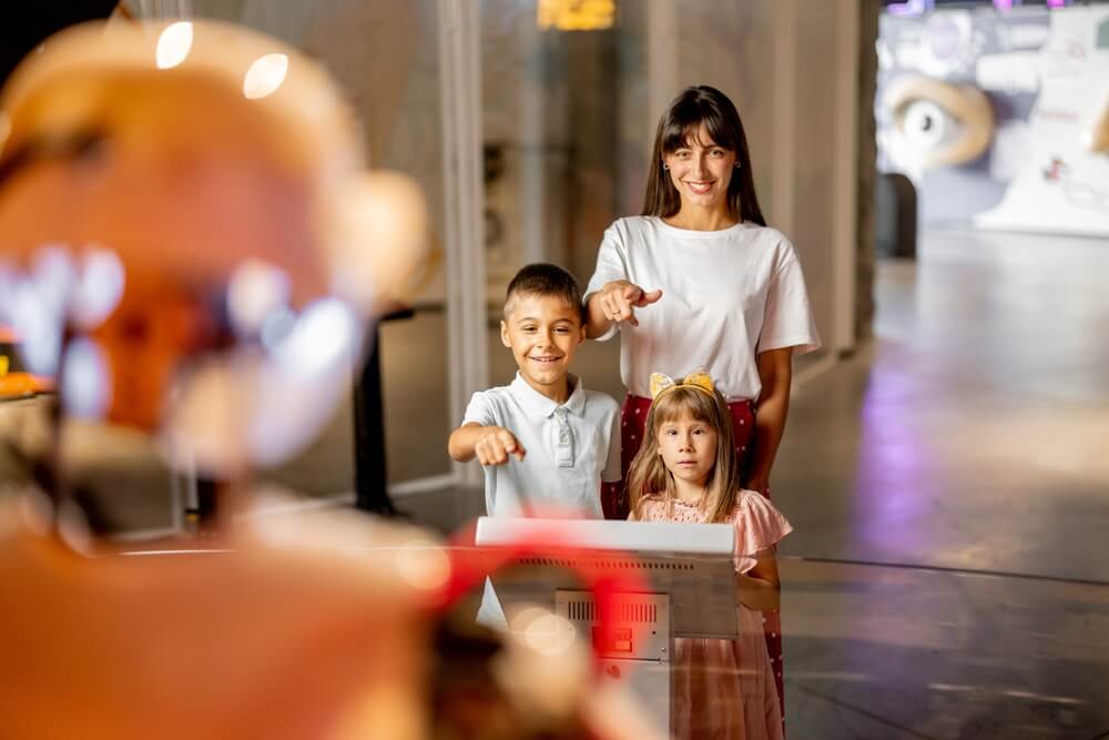
M704 368L729 402L745 488L770 494L792 358L821 346L793 244L766 226L740 115L689 88L659 121L643 215L604 233L586 291L587 335L621 335L624 477L643 439L651 373ZM625 500L611 503L625 517ZM766 642L782 696L777 612ZM784 713L783 713L784 716Z

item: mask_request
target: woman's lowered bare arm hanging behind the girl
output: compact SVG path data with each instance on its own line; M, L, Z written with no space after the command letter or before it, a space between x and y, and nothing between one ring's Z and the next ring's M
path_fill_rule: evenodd
M765 494L770 488L770 472L785 432L790 413L790 383L793 381L793 347L760 353L757 358L762 393L755 402L754 449L747 466L744 488Z

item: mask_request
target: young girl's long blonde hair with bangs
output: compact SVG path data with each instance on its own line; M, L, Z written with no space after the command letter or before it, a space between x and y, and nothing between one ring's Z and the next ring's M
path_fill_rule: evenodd
M719 392L679 385L660 393L651 404L643 428L643 444L628 473L628 494L637 518L642 518L643 499L661 497L668 513L674 500L674 476L659 454L659 429L663 424L689 416L716 432L716 462L705 481L701 509L705 521L728 521L740 489L740 464L728 404Z

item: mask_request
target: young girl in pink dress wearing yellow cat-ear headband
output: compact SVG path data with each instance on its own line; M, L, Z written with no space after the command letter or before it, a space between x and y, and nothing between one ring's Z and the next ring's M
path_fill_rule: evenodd
M740 486L728 404L706 374L676 383L654 374L651 395L628 481L629 518L735 527L739 639L674 640L671 734L780 740L776 667L761 612L779 606L774 549L793 528L765 496Z

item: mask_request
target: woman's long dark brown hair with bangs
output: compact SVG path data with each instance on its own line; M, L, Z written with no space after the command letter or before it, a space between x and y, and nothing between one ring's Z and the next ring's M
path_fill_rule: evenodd
M643 195L643 215L669 219L681 210L681 196L670 180L670 173L662 166L662 158L685 146L701 123L704 123L714 142L735 152L735 161L740 164L728 183L729 213L741 221L765 226L766 220L755 195L743 121L728 95L706 84L683 90L659 119L651 172L647 176L647 193Z

